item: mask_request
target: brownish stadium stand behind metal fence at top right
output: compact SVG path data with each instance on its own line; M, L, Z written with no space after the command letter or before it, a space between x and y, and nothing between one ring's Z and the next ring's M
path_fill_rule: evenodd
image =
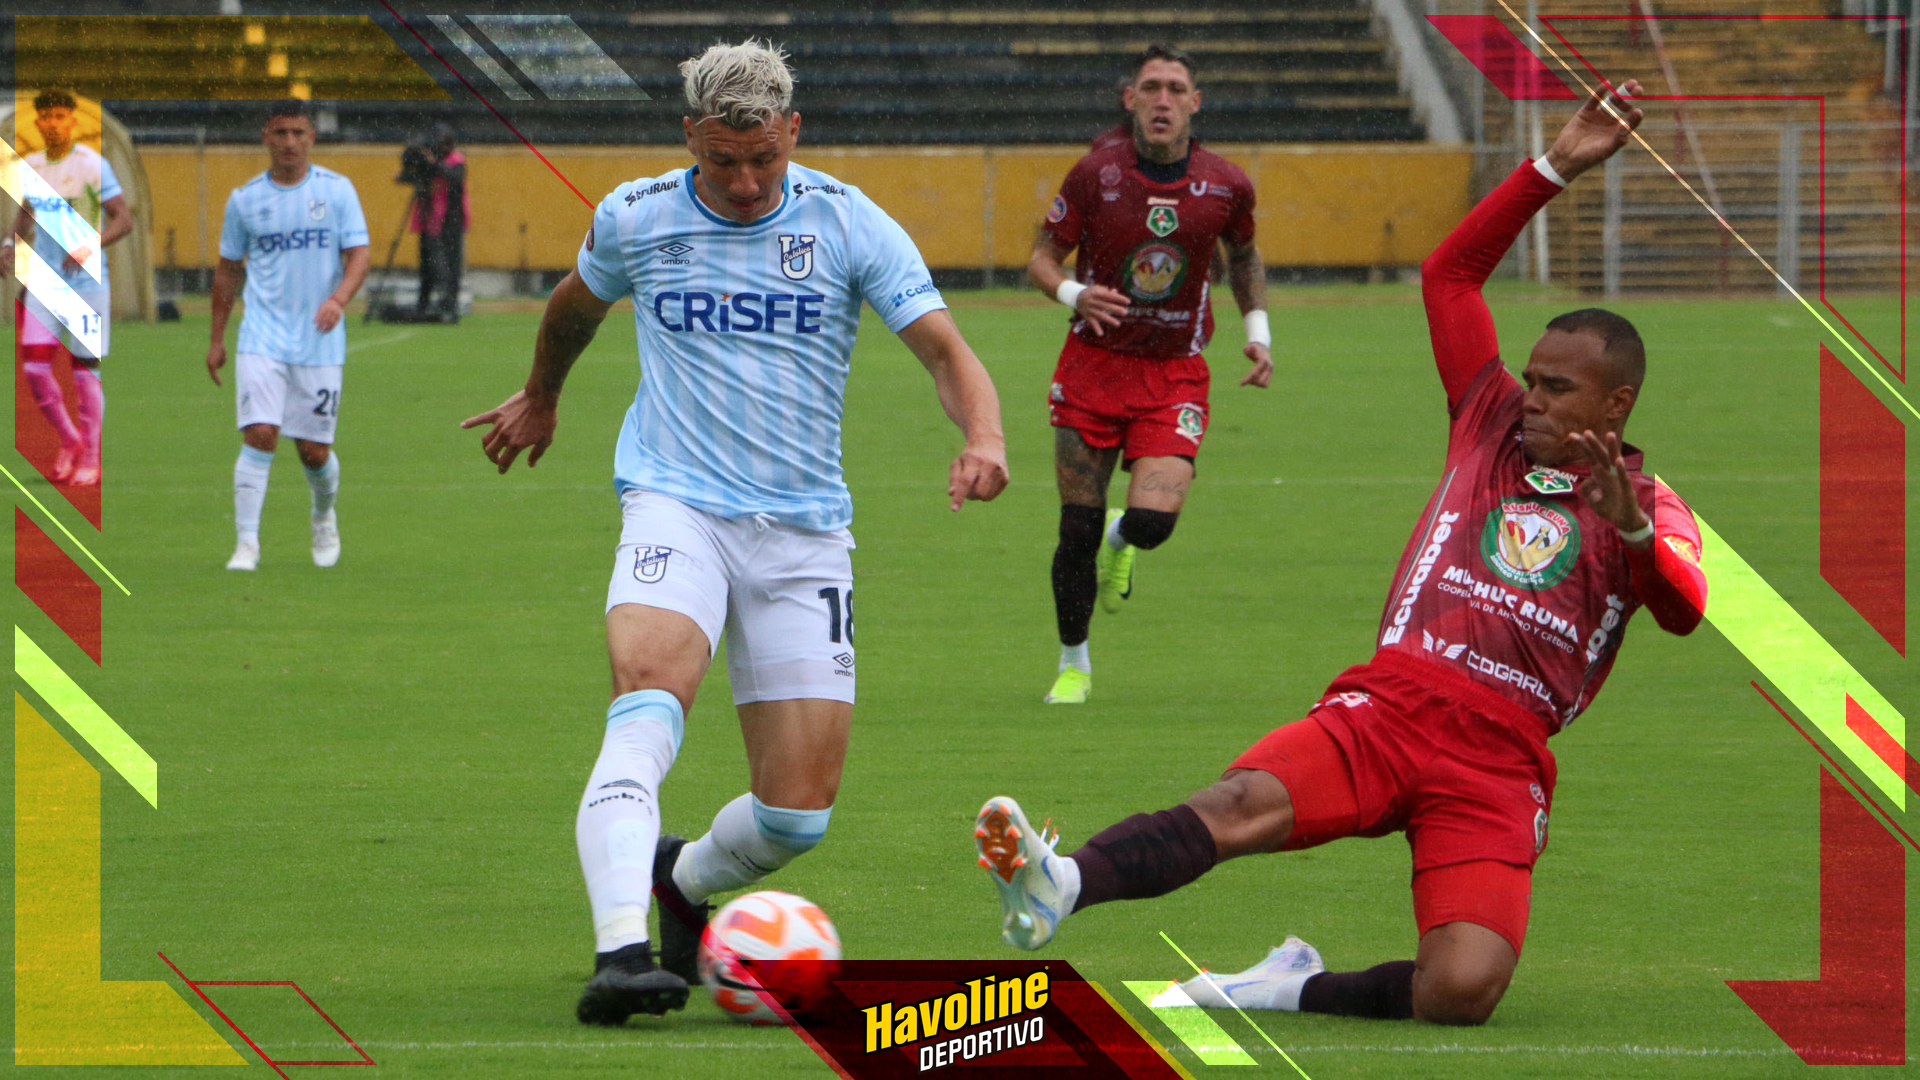
M1901 115L1899 100L1882 92L1884 42L1859 21L1828 17L1816 0L1772 0L1764 12L1766 21L1661 10L1659 37L1688 100L1657 102L1642 135L1795 286L1816 284L1824 252L1826 288L1897 288ZM1548 17L1561 37L1546 37L1590 83L1599 71L1672 94L1651 29L1620 15L1615 0L1557 0ZM1494 98L1486 140L1523 146L1513 104ZM1551 206L1555 282L1588 292L1776 288L1645 152L1622 154L1613 169L1611 184L1576 184ZM1619 229L1611 258L1609 186Z

